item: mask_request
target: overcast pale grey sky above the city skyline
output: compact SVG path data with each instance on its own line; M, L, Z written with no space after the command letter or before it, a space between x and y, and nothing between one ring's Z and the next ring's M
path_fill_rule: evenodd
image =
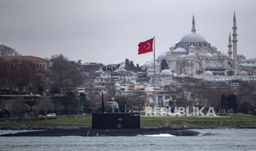
M0 44L22 55L63 54L82 62L142 65L138 43L156 37L156 57L190 33L227 53L236 10L238 54L256 57L256 1L23 1L0 0Z

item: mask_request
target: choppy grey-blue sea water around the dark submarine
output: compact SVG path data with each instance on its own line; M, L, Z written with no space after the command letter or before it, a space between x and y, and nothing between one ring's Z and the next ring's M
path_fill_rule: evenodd
M256 150L256 129L199 129L199 136L0 137L0 150ZM0 131L13 133L21 131Z

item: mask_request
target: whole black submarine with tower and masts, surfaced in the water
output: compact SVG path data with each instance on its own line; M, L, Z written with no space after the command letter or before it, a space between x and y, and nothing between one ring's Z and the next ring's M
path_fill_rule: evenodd
M200 135L200 132L189 130L187 128L140 127L140 113L105 113L103 97L102 112L92 113L91 125L91 127L83 129L28 131L7 133L0 136L143 136L158 135L163 133L173 136Z

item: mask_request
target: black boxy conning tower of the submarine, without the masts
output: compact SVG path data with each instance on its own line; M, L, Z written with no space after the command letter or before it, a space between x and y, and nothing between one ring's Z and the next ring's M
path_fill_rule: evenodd
M92 113L92 129L140 129L140 113Z

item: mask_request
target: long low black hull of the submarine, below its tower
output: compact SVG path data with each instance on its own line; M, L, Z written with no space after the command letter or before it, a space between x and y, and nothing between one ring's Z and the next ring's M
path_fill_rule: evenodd
M74 130L42 130L18 133L7 133L1 136L138 136L168 133L174 136L199 136L200 132L188 129L173 128L141 128L141 129L74 129Z

